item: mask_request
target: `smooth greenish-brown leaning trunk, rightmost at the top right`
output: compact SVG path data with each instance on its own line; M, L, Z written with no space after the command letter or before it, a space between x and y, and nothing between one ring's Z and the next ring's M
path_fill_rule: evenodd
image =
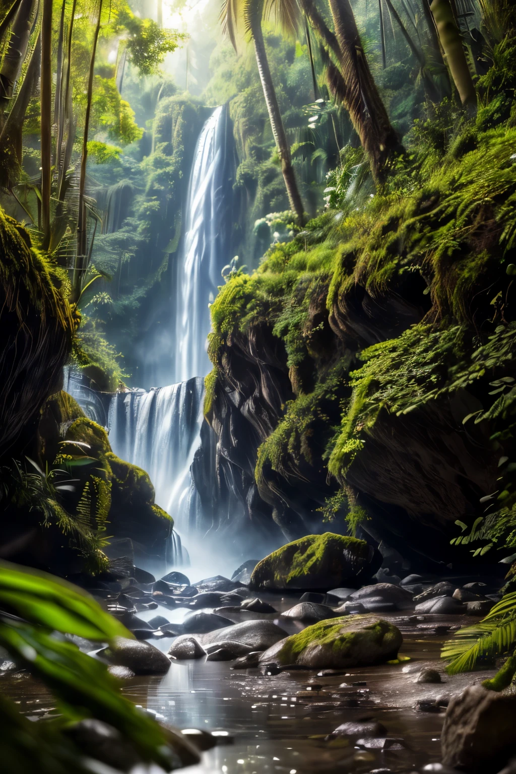
M470 68L464 53L460 30L456 26L452 6L449 0L433 0L430 5L433 18L436 20L439 40L443 46L453 81L459 92L463 105L476 105L477 92L473 84Z

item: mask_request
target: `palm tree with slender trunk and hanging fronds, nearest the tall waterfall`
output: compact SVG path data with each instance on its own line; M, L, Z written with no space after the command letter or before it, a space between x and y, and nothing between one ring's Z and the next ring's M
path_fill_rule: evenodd
M270 11L271 5L272 4L268 5L268 11ZM282 0L282 2L276 6L276 9L279 12L282 27L287 30L295 30L298 24L296 3L292 2L292 0ZM279 110L278 98L276 97L274 84L272 83L271 70L268 66L267 53L265 51L265 41L261 29L261 22L264 15L265 0L240 0L240 3L238 3L237 0L226 0L221 14L224 27L227 29L227 33L235 50L237 50L236 32L240 17L244 18L246 32L251 34L251 38L255 43L258 73L260 74L261 87L265 97L265 104L267 105L268 117L271 122L272 134L274 135L276 148L278 149L278 155L282 165L283 180L285 180L290 207L292 212L296 214L299 224L303 224L305 220L305 211L302 206L302 200L296 182L296 173L292 166L290 146L283 125L282 114Z

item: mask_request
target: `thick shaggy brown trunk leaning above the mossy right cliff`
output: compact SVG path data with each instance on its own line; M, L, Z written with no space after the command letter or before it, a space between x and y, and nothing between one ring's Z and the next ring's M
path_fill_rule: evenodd
M380 182L391 157L402 152L402 146L369 70L350 0L330 0L330 9L342 52L344 104L369 156L373 176Z

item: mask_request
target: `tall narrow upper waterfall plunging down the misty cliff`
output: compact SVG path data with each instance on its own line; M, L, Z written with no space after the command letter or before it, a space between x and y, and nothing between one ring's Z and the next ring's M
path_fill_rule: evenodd
M176 281L175 381L210 370L208 304L230 262L234 139L227 105L215 108L197 140L186 205L186 232Z

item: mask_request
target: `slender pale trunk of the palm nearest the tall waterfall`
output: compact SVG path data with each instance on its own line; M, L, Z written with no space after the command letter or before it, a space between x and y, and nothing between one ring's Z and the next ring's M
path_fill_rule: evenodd
M289 196L290 207L296 214L300 225L305 221L305 212L302 206L301 196L296 182L296 173L292 166L290 158L290 146L285 134L282 115L279 111L278 99L272 83L271 70L268 67L267 53L265 52L265 41L261 31L261 15L263 11L263 0L258 0L251 12L251 35L255 43L256 62L258 64L258 73L260 74L261 87L267 104L268 117L271 121L272 134L274 135L276 148L278 149L279 159L282 165L283 179Z

